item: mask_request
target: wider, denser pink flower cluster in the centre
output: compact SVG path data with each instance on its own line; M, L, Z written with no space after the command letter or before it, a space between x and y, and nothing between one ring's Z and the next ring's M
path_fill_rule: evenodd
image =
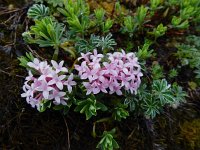
M130 93L137 92L141 83L141 67L134 53L114 52L105 57L94 50L93 54L88 52L81 54L78 60L83 60L81 65L75 65L81 79L90 93L104 93L122 95L122 89Z

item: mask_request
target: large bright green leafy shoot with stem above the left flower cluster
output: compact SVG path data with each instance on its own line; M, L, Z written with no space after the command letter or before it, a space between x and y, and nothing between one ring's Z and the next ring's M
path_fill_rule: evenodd
M52 46L55 49L53 58L57 59L64 30L64 26L52 17L45 17L42 20L35 20L35 26L32 26L30 31L24 32L23 37L30 44L35 43L40 47Z

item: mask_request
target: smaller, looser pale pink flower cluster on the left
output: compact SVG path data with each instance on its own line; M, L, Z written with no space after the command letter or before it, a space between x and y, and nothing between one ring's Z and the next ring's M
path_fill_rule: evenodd
M66 105L67 95L64 87L66 86L69 93L72 92L72 86L76 85L73 81L73 74L70 74L66 80L68 73L66 67L63 67L64 61L59 64L51 60L52 66L47 64L47 61L39 61L34 58L33 62L28 62L27 65L36 72L37 75L29 70L29 75L24 82L22 97L26 97L27 103L32 107L37 107L39 110L42 100L52 100L55 105Z

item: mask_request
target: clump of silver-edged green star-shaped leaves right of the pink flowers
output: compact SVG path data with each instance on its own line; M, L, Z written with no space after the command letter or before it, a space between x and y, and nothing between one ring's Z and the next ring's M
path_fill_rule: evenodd
M147 88L148 87L148 88ZM185 102L187 94L177 84L171 86L166 79L153 80L151 85L143 84L135 97L127 95L125 104L130 111L142 113L148 119L154 119L163 112L163 106L176 108Z

